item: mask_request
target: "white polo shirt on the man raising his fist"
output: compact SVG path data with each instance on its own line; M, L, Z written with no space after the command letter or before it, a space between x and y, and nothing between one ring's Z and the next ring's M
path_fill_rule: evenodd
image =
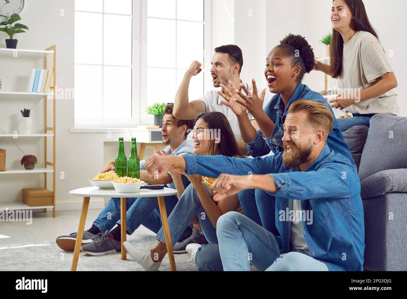
M249 92L252 92L252 85L249 85L243 80L241 82L246 85L246 88L248 89ZM237 121L237 116L234 114L232 109L230 109L228 106L224 105L221 103L221 100L224 100L222 96L217 94L217 92L221 91L221 89L217 90L210 90L209 92L206 92L203 96L201 96L198 100L201 100L204 102L206 106L205 112L221 112L223 113L226 118L228 118L230 127L232 127L232 131L234 134L234 137L236 138L236 141L242 141L242 136L240 134L240 129L239 129L239 123ZM243 88L241 89L242 94L247 96ZM249 119L252 120L252 116L247 112L247 116L249 116Z

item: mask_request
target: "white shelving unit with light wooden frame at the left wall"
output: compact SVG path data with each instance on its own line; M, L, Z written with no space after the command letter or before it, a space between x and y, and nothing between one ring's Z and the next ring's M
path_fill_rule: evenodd
M44 173L44 188L47 188L47 174L53 174L53 205L41 206L41 207L30 207L22 202L1 202L0 210L37 210L37 209L53 209L53 217L55 217L55 96L53 97L53 126L47 127L47 101L52 93L55 93L56 86L56 46L50 46L45 50L28 50L28 49L7 49L0 48L0 56L6 57L20 57L24 55L26 58L38 57L39 55L44 56L44 68L48 68L48 59L47 55L53 55L53 86L50 87L51 92L12 92L12 91L2 91L0 92L0 105L1 103L7 100L16 100L18 98L23 98L24 100L37 100L39 103L40 100L44 99L44 133L37 134L17 134L16 137L43 137L44 138L44 165L35 167L34 169L27 170L25 168L18 169L6 169L6 171L0 171L0 175L15 175L15 174L31 174L31 173ZM36 105L36 104L35 104ZM48 133L52 131L52 133ZM15 134L3 133L0 134L0 137L8 137L11 140L15 140ZM47 138L53 138L53 162L48 162L47 159ZM17 144L15 144L17 146ZM18 147L18 146L17 146ZM7 157L6 157L7 159ZM50 167L47 167L50 166Z

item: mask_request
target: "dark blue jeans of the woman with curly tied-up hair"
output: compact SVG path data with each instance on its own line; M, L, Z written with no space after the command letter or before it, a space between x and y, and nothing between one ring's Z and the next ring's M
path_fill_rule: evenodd
M276 227L276 197L260 189L246 189L237 195L245 216L280 236Z

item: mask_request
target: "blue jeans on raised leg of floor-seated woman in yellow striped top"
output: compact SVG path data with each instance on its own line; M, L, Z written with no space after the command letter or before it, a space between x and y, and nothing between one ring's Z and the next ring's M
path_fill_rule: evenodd
M212 199L212 190L210 190L210 188L205 184L204 188L209 197ZM209 217L206 215L201 201L199 200L198 194L192 184L185 189L177 205L175 205L174 210L168 217L172 244L175 244L175 242L179 240L194 215L196 215L198 218L206 240L208 240L210 244L217 244L218 239L216 236L216 229L210 222ZM155 238L165 243L164 231L162 227L160 231L158 231Z

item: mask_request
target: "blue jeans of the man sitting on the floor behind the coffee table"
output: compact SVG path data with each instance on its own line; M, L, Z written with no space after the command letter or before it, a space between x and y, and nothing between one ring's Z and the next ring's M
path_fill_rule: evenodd
M164 202L168 215L174 209L178 199L175 195L165 196ZM162 227L157 197L129 197L126 201L126 209L127 234L133 234L141 224L155 233ZM101 232L105 232L110 231L116 223L120 224L120 198L113 197L109 199L93 224Z

